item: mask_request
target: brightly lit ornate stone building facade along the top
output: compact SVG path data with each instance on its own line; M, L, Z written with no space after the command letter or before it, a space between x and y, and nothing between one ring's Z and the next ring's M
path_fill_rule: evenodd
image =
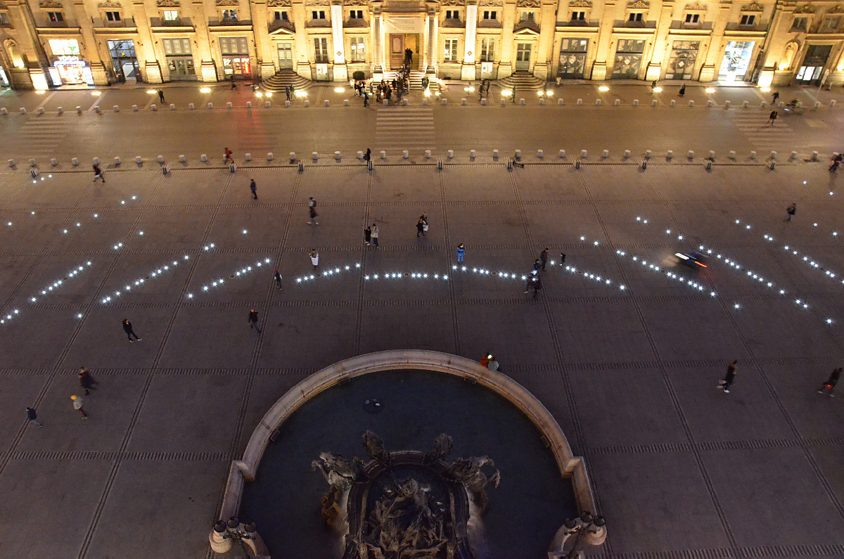
M776 0L2 0L13 88L367 78L844 82L844 3Z

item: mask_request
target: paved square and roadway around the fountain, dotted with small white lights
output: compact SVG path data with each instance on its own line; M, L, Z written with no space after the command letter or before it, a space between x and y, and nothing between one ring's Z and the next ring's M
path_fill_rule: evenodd
M350 356L421 349L491 351L555 416L607 518L607 543L588 555L844 556L844 394L816 392L844 366L844 179L827 171L841 108L784 118L767 138L736 122L740 106L437 106L438 154L380 160L377 117L359 107L68 106L0 117L4 159L17 160L0 174L0 555L211 557L231 460L276 400ZM749 111L761 129L766 113ZM541 125L550 114L559 128ZM22 135L47 117L78 120ZM484 154L469 160L475 144ZM371 172L354 157L366 147ZM449 161L445 149L463 151ZM524 168L507 171L505 149L522 149ZM303 172L291 150L308 155ZM91 181L94 156L105 183ZM363 242L372 223L377 249ZM554 263L533 300L522 275L544 247ZM677 264L698 247L708 268ZM141 341L128 343L124 318ZM100 383L87 421L70 399L79 366ZM517 475L502 471L502 487Z

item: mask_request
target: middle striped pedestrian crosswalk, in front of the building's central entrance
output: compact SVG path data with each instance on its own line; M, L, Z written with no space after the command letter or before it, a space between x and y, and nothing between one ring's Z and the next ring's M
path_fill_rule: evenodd
M376 149L419 152L434 149L434 111L428 107L395 106L378 109Z

